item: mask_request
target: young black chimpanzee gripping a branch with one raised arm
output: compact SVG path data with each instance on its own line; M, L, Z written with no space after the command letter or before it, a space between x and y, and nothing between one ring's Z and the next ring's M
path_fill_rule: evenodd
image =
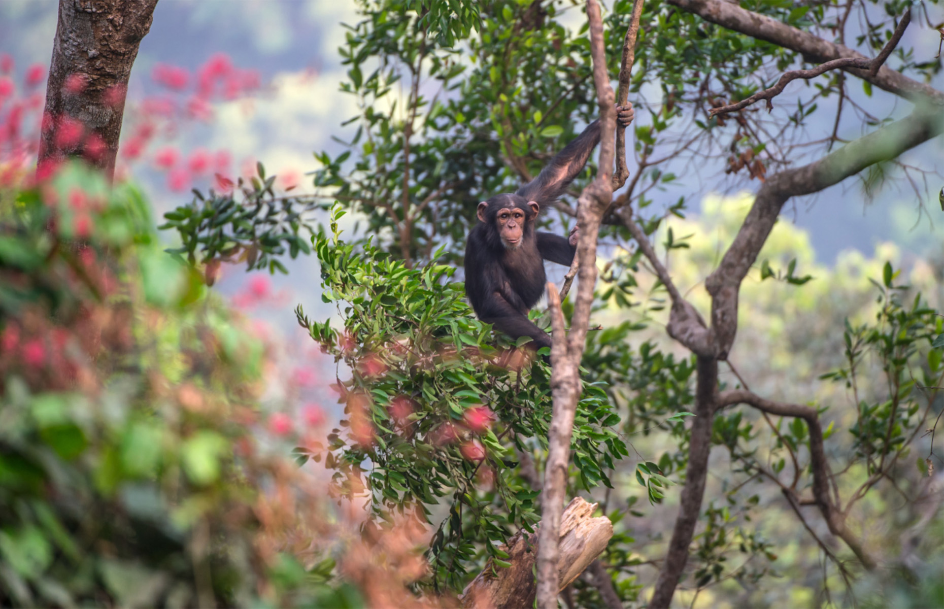
M632 104L617 107L620 127L632 122ZM537 178L514 195L496 195L479 204L480 223L465 245L465 295L479 318L512 338L531 336L535 349L550 347L550 336L528 319L544 293L544 261L569 265L578 230L569 238L534 230L541 206L564 194L599 142L599 122L588 125Z

